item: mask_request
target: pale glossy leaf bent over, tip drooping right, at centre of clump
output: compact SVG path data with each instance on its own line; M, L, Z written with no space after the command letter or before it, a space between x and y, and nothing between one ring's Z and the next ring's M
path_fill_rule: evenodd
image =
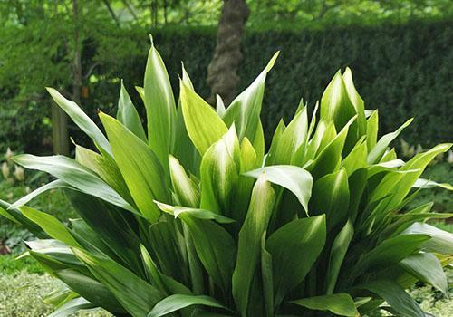
M292 165L275 165L258 168L244 175L259 178L261 174L271 183L280 185L291 191L299 200L308 215L308 201L312 195L313 178L304 168Z

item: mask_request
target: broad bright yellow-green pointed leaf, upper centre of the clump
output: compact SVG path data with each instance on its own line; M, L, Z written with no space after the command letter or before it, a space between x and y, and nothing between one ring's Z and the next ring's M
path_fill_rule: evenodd
M228 128L216 111L192 91L184 82L180 82L181 107L188 136L201 155L222 138Z

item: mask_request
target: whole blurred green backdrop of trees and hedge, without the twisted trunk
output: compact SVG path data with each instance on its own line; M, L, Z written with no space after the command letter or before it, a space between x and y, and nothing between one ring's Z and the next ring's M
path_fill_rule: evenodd
M73 5L78 12L74 15ZM124 79L136 101L155 37L178 91L180 61L209 96L207 65L216 46L220 0L0 1L0 150L52 151L52 102L44 86L71 97L74 53L81 53L82 108L113 113ZM249 0L238 69L243 89L276 50L265 96L269 133L302 97L313 107L346 65L383 131L416 117L405 134L423 146L447 141L453 89L453 3L449 0ZM76 37L77 36L77 37ZM76 90L79 90L77 88ZM139 107L140 108L140 107ZM69 126L75 139L77 130ZM83 143L83 139L77 139Z

